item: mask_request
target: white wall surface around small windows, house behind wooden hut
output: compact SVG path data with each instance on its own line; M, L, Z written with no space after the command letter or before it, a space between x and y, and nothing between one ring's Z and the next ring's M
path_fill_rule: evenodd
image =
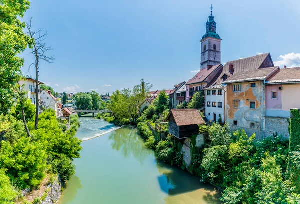
M219 114L222 117L222 122L225 119L225 90L223 88L215 88L215 89L208 89L211 91L211 95L207 95L207 90L205 90L206 99L205 99L205 114L208 120L213 121L213 114L216 114L216 121L219 119ZM216 95L212 95L212 90L216 90ZM222 90L222 95L217 95L218 90ZM210 107L207 106L207 102L210 102ZM216 107L212 107L212 102L216 102ZM217 103L221 102L222 107L218 107Z

